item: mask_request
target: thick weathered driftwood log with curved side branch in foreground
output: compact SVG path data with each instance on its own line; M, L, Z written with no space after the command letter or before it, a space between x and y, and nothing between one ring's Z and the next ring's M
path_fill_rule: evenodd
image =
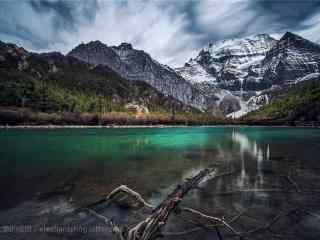
M92 207L103 202L116 202L120 205L130 206L131 208L142 208L153 206L147 203L139 193L133 191L127 186L120 186L113 190L104 199L99 200L93 204L88 205L85 209L90 214L94 215L112 229L119 240L154 240L162 236L161 228L166 224L170 214L176 210L182 198L193 188L197 187L204 180L211 178L213 169L204 169L196 174L194 177L186 179L182 185L178 185L167 198L162 201L156 208L153 209L152 214L145 220L138 223L133 228L127 230L126 227L121 228L116 225L111 219L97 213Z

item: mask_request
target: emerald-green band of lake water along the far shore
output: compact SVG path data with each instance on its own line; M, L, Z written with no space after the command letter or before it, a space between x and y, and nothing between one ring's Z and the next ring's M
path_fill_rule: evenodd
M234 134L242 138L236 139ZM83 164L120 168L133 164L143 170L145 163L184 161L184 154L189 152L234 152L251 142L302 144L303 148L310 144L312 148L319 140L319 129L305 128L1 130L0 166L1 175L81 169ZM303 154L309 154L305 150L301 149ZM199 156L194 164L202 160L208 159Z

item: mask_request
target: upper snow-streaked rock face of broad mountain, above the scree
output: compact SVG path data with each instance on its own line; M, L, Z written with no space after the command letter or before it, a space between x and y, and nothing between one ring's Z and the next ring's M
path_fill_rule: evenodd
M233 91L263 89L263 81L252 82L250 77L259 76L257 66L275 43L267 34L210 43L195 59L176 70L193 83L209 82Z

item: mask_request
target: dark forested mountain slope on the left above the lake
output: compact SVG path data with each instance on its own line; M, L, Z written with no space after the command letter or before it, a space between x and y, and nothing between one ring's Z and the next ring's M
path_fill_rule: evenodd
M108 52L108 49L105 51ZM70 98L63 99L55 89L64 93L63 96L70 95ZM42 95L50 93L54 98L48 101L52 105L48 109L53 111L70 110L63 106L70 106L72 102L88 104L98 96L117 107L134 102L147 106L151 111L194 111L145 82L122 78L109 67L89 65L60 53L30 53L1 41L0 90L0 104L5 106L20 106L21 99L28 99L26 106L37 108L41 99L46 97ZM48 93L42 94L42 90ZM75 92L77 96L73 97ZM59 101L61 109L56 108L56 101Z

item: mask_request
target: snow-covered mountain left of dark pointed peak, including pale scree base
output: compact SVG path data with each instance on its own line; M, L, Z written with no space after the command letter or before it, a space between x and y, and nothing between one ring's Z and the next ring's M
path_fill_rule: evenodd
M233 116L239 117L257 109L258 102L262 104L256 100L259 98L256 91L265 88L261 84L260 64L276 42L267 34L259 34L210 43L196 58L175 70L217 99L216 104L224 114L235 113Z

